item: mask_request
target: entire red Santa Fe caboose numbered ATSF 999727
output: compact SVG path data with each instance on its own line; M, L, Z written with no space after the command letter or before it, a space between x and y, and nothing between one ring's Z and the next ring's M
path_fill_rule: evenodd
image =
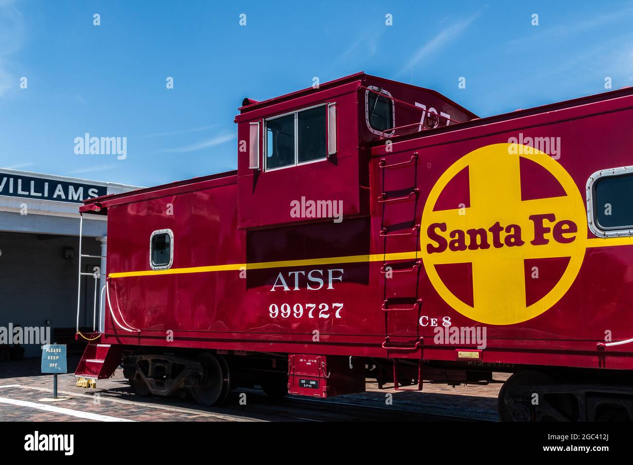
M244 99L236 171L80 208L108 252L76 375L210 405L506 371L501 419L631 419L632 121L632 89L477 118L365 73Z

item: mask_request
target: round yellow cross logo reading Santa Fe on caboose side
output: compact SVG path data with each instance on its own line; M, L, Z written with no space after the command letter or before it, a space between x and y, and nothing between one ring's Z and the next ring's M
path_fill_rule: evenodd
M541 185L538 176L529 180L532 194L548 194L548 183L560 192L522 195L523 164L545 175ZM457 198L445 188L466 171L468 204L441 205L441 195ZM434 288L459 313L491 325L526 321L558 302L578 275L587 243L584 202L572 177L548 154L518 144L481 147L451 165L429 194L422 225L423 264ZM539 259L568 261L558 281L530 302L525 289L534 271L526 263ZM456 264L470 267L469 299L453 291L471 283L450 286L438 273Z

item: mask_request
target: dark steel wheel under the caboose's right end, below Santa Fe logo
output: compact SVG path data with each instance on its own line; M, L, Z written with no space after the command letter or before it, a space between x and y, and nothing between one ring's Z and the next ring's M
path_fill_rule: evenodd
M565 394L537 393L537 406L532 404L534 391L539 385L558 385L563 383L560 376L543 371L517 371L503 383L499 391L497 409L501 421L568 421L575 416L575 405Z

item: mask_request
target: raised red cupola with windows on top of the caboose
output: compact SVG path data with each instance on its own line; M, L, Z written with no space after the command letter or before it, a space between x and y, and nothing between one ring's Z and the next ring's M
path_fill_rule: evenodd
M241 229L323 221L291 214L302 198L342 204L344 218L367 216L371 142L475 117L437 92L365 73L242 104Z

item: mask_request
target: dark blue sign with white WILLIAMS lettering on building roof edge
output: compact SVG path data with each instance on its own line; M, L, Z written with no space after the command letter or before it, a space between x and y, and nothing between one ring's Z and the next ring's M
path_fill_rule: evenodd
M0 173L0 195L82 203L107 194L105 186Z

